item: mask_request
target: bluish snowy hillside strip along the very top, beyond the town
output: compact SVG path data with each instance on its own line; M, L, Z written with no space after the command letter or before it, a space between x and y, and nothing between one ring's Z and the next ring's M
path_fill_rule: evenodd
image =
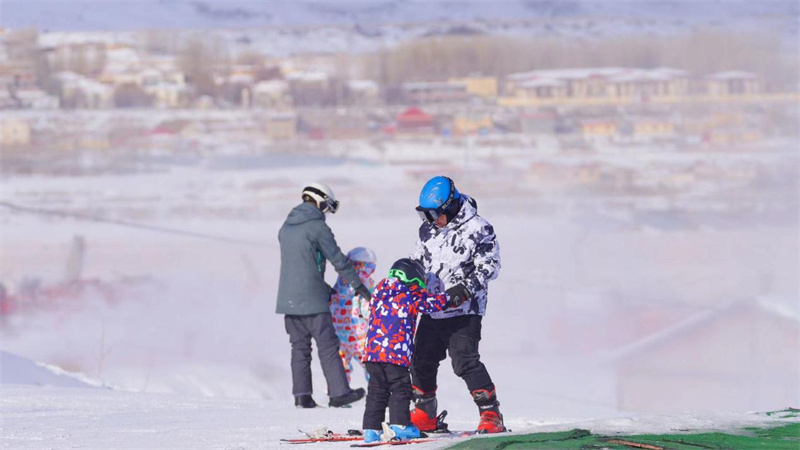
M2 24L6 27L36 26L47 30L73 31L582 17L728 21L764 15L798 14L798 4L791 0L4 0L0 8Z

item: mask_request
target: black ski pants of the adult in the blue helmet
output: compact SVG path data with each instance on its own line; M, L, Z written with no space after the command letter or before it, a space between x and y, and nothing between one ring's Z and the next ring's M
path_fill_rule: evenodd
M432 319L423 315L414 340L416 349L411 358L411 379L423 392L436 391L439 363L450 353L453 372L467 383L470 392L494 390L489 372L481 362L478 344L481 341L482 316L467 315Z

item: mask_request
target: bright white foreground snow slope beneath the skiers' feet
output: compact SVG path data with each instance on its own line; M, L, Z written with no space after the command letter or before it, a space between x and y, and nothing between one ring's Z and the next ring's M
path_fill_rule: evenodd
M105 389L2 385L0 446L13 449L274 449L296 431L360 428L361 404L350 409L297 410L279 402L148 394ZM515 422L514 433L583 428L593 433L727 431L785 424L763 414L639 415L591 421ZM469 427L466 423L451 426ZM480 438L478 438L480 439ZM452 440L419 444L434 449ZM349 448L348 443L316 447Z

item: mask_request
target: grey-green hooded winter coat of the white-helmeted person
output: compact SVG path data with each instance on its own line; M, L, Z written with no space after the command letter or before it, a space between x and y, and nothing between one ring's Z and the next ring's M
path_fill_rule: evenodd
M325 223L325 214L311 203L289 213L278 232L281 244L281 276L278 314L311 315L330 312L331 287L325 283L325 260L354 288L361 284Z

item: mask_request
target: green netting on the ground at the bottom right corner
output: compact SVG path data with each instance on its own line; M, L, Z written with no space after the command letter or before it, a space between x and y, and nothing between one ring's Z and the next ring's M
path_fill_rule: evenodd
M800 450L800 423L773 428L746 429L741 433L652 434L600 436L574 429L554 433L505 435L470 439L450 447L455 450L519 449L774 449Z

